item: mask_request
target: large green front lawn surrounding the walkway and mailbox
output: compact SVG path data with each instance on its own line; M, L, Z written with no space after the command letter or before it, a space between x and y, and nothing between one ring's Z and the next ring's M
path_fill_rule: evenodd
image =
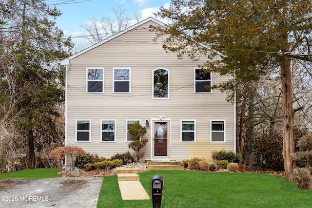
M281 176L258 173L150 170L138 173L151 197L151 178L164 177L162 208L307 208L312 190ZM98 208L148 208L150 200L122 200L117 176L104 177Z

